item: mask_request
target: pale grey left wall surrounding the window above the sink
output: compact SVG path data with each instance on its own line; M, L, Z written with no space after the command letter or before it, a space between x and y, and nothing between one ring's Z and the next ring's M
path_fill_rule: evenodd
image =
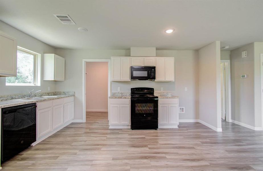
M48 86L50 91L55 91L55 81L43 81L43 54L54 53L55 49L2 21L0 21L0 30L16 38L18 46L41 54L41 86L5 86L5 77L0 77L0 95L25 94L32 89L45 92L48 91Z

